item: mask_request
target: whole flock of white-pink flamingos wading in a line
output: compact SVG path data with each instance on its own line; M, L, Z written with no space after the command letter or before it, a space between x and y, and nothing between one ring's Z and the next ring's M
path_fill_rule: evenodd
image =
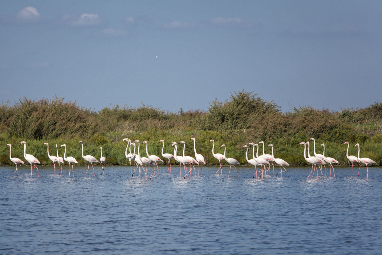
M168 161L167 172L170 171L170 173L171 173L171 163L170 163L170 160L171 159L175 159L175 161L180 163L180 177L182 177L182 164L183 164L183 169L184 169L184 175L183 175L184 179L186 179L186 177L188 175L191 177L192 168L194 168L194 173L195 173L195 176L196 176L196 169L195 169L195 167L193 167L194 164L198 165L198 175L201 174L201 170L202 170L201 163L206 164L206 161L204 160L204 157L201 154L196 153L195 138L191 138L191 140L194 141L195 158L193 158L191 156L185 156L185 146L186 146L185 141L180 141L180 143L183 143L183 156L177 156L176 155L176 151L178 149L178 143L171 142L172 146L174 146L174 154L170 154L170 153L163 153L165 142L163 140L159 141L160 143L163 142L162 157L166 158L167 161ZM310 156L310 154L309 154L309 141L299 143L299 145L304 145L304 158L305 158L305 160L309 164L312 165L312 170L311 170L311 173L308 176L308 179L311 176L311 174L313 174L312 177L314 176L314 172L315 171L317 172L317 179L318 179L318 169L317 169L317 166L319 166L321 175L323 175L322 174L322 166L324 166L324 171L325 171L324 174L326 175L325 162L330 164L330 176L332 175L332 168L333 168L333 176L335 176L335 174L334 174L334 167L332 166L332 164L333 163L339 164L339 162L337 160L333 159L333 158L325 157L325 145L323 143L321 144L321 146L323 146L323 148L324 148L323 153L322 154L317 154L316 153L316 141L314 140L314 138L310 138L310 140L312 140L314 142L314 145L313 145L314 156ZM160 159L158 156L149 155L149 152L147 150L147 146L148 146L147 141L142 142L142 143L146 143L147 158L146 157L141 157L141 155L139 153L139 145L140 145L139 140L136 140L136 141L134 141L132 143L130 139L124 138L123 141L127 142L127 146L126 146L126 150L125 150L125 156L129 160L129 162L130 162L131 178L133 178L133 175L134 175L136 170L139 170L139 177L138 178L140 178L141 171L143 170L144 174L146 175L146 180L147 180L147 175L148 175L148 173L147 173L147 166L153 166L153 168L154 168L154 171L152 172L152 174L150 176L150 179L151 179L152 175L155 173L155 169L157 169L157 174L159 174L159 167L158 167L157 162L158 161L159 162L163 162L163 160ZM236 159L227 158L225 156L225 149L226 149L225 145L220 146L220 148L224 147L224 154L214 153L215 141L214 140L210 140L209 142L213 143L213 145L212 145L212 155L219 161L219 164L220 164L220 167L217 170L216 174L219 172L219 170L220 170L220 174L222 174L222 162L221 161L225 160L230 165L230 172L228 173L228 177L229 177L230 173L231 173L231 166L234 166L235 169L236 169L236 165L240 165L239 162ZM100 160L98 161L95 157L93 157L91 155L84 156L84 143L83 143L83 141L79 141L79 143L82 144L81 156L82 156L82 158L85 161L87 161L89 163L88 166L87 166L86 174L89 171L89 167L90 167L90 164L91 164L92 168L93 168L93 174L95 176L93 163L100 163L101 164L101 166L102 166L101 174L102 174L102 172L104 171L104 166L105 166L105 161L106 161L106 158L104 156L102 156L102 147L99 148L101 150L101 157L100 157ZM138 154L135 154L136 143L138 143ZM29 162L29 164L31 164L31 177L32 177L33 169L37 168L36 164L41 164L41 163L40 163L40 161L35 156L26 153L26 142L25 141L21 141L20 145L21 144L24 144L24 158L25 158L26 161ZM258 155L258 153L259 153L259 144L263 145L262 146L262 153L263 154L260 155L260 156ZM258 173L259 173L260 177L262 177L262 178L263 178L263 176L265 174L267 174L267 172L268 172L268 174L270 174L270 164L272 164L272 166L273 166L273 173L274 173L275 167L274 167L273 162L275 162L277 165L279 165L280 166L280 170L281 170L279 173L276 174L276 176L278 174L280 174L282 176L282 173L286 171L285 166L289 166L289 164L285 160L283 160L283 159L275 158L274 157L274 154L273 154L273 145L272 144L268 145L268 146L272 147L272 155L264 153L264 142L263 141L259 142L259 144L257 144L257 143L256 144L255 143L249 143L248 144L248 145L252 145L253 148L255 146L257 147L256 157L255 157L255 153L254 153L254 149L253 149L253 152L252 152L253 159L248 159L248 145L244 145L243 146L243 148L246 148L246 150L247 150L246 151L246 155L245 155L247 162L249 164L253 165L255 167L255 169L256 169L256 172L253 174L253 178L255 178L255 175L256 175L256 178L257 178L257 174ZM355 145L355 146L358 146L358 157L356 157L356 156L349 156L348 155L349 142L345 142L343 144L344 145L345 144L348 145L348 149L346 150L346 158L348 158L349 161L351 162L351 167L353 169L353 176L354 176L353 163L357 163L359 165L359 169L361 169L361 164L360 163L363 163L363 164L366 165L366 179L367 179L367 176L369 174L369 169L368 169L367 166L369 164L376 164L376 162L372 161L369 158L359 158L359 144L358 143ZM64 160L65 160L66 162L69 163L69 177L70 177L70 172L72 172L72 175L74 177L73 164L74 163L78 163L78 162L76 161L75 158L73 158L71 156L66 157L66 145L65 144L61 145L61 147L65 147L64 158L58 156L58 146L57 145L56 145L57 157L56 156L52 156L52 155L49 154L49 144L48 143L44 143L44 145L47 146L47 151L48 151L49 159L51 161L53 161L53 165L54 165L53 174L56 174L56 164L55 164L55 162L58 163L59 168L61 170L60 174L62 174L62 165L61 164L63 164ZM131 153L131 146L132 145L134 146L133 153ZM308 145L308 157L306 157L306 145ZM24 164L24 162L21 159L19 159L19 158L12 158L11 157L11 144L8 143L7 146L10 146L9 158L11 159L11 161L13 163L16 164L16 171L13 173L13 175L16 172L18 174L17 164ZM129 149L129 153L127 153L127 149ZM131 160L134 161L134 171L133 171L133 168L131 166ZM70 165L72 165L72 166L70 167ZM138 167L136 167L136 165ZM186 165L189 165L189 170L187 169ZM261 170L257 171L257 166L261 167ZM268 169L267 169L267 167L268 167ZM358 169L358 175L359 175L359 169ZM238 173L237 169L236 169L236 173L239 176L239 173ZM86 176L86 174L85 174L85 176ZM37 168L37 176L39 176L39 169L38 168Z

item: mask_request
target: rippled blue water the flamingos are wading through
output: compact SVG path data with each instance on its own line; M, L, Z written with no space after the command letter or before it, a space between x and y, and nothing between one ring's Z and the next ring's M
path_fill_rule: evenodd
M217 167L180 179L161 167L149 181L129 167L1 167L0 253L380 254L382 172L306 179L307 167L253 179ZM165 170L166 169L166 170ZM358 170L358 169L357 169ZM34 171L35 172L35 171ZM89 175L90 174L90 175ZM150 172L151 174L151 172ZM329 174L328 174L329 175Z

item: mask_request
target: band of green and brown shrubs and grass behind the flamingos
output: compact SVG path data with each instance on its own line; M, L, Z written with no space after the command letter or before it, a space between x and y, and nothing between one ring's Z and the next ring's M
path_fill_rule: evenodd
M104 149L107 164L127 165L125 158L125 137L131 140L148 141L149 153L160 155L165 140L165 153L173 153L171 141L186 141L186 154L193 156L193 141L196 149L204 155L207 164L218 164L213 158L209 144L215 140L215 152L223 153L220 145L227 145L227 157L245 164L243 145L249 142L264 141L265 145L275 146L275 157L282 158L291 165L305 165L303 147L298 144L316 138L316 152L322 153L321 143L325 143L325 155L348 165L346 146L349 141L349 154L356 155L355 143L361 145L361 157L371 158L382 164L382 103L374 102L362 109L342 109L340 112L328 109L317 110L309 106L293 107L293 112L281 112L273 101L267 102L257 94L244 90L231 93L224 102L215 100L204 110L167 112L152 106L105 107L96 112L84 109L76 102L64 102L63 98L39 101L20 99L14 105L9 102L0 105L0 164L11 164L7 143L12 144L12 156L23 160L23 146L27 141L27 152L36 156L42 164L51 164L47 156L56 155L55 145L59 146L60 156L66 144L67 156L73 156L80 164L80 140L84 141L84 154L99 158L99 146ZM142 145L142 144L141 144ZM133 147L132 147L133 149ZM183 150L179 146L178 154ZM311 148L312 152L312 148ZM252 154L252 146L249 153ZM265 153L271 153L265 148ZM262 154L260 146L259 154ZM312 153L311 153L312 154ZM141 156L146 155L146 146L141 147Z

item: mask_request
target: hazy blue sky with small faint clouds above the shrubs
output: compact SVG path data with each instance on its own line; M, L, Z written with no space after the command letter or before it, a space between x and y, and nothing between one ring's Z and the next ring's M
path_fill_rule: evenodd
M207 109L381 100L382 1L1 1L3 102ZM156 57L157 56L157 57Z

